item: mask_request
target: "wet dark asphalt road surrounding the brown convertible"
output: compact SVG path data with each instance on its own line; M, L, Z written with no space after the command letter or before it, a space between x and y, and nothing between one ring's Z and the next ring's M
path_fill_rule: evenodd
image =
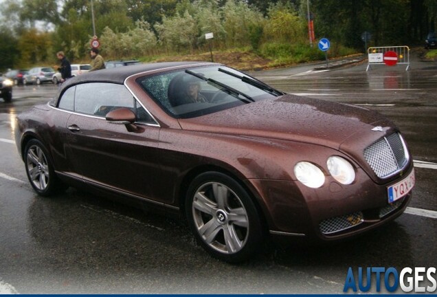
M388 115L418 161L417 183L408 213L384 228L324 247L270 244L241 265L210 258L177 219L74 189L38 197L12 142L13 119L56 87L14 87L12 103L0 102L0 293L336 294L348 267L436 267L437 63L412 58L409 72L359 64L253 73L282 91Z

